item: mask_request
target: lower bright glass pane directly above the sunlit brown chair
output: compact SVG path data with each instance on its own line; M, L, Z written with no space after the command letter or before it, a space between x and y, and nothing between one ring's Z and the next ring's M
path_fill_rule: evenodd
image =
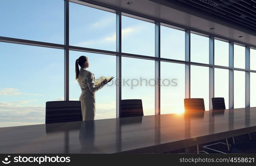
M191 65L191 98L204 98L209 110L209 67Z

